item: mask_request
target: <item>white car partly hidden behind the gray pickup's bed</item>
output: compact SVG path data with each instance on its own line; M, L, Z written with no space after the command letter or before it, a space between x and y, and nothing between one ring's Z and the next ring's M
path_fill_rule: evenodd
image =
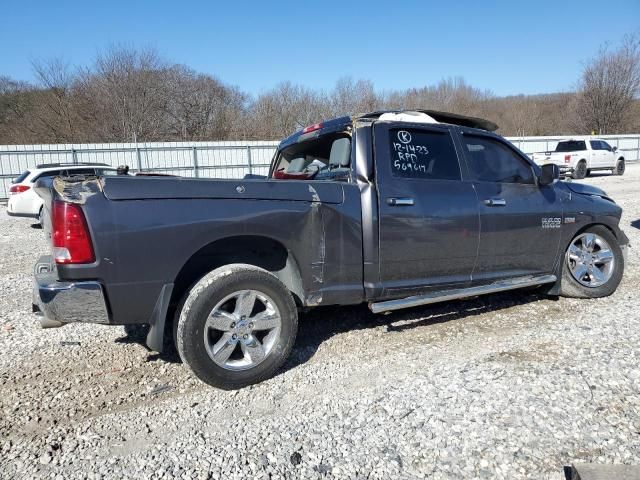
M116 175L118 169L101 163L46 163L25 170L9 189L7 213L12 217L31 217L40 221L42 199L33 190L36 180L43 177L70 175Z

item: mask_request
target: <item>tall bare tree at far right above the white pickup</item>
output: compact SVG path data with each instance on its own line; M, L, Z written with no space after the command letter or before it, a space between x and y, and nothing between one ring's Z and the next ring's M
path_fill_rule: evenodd
M621 131L640 94L640 38L626 36L619 49L603 48L582 74L578 126L588 132Z

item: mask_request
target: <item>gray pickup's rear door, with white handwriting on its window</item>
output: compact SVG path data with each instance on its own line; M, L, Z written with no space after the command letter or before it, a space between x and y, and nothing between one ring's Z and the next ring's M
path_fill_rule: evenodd
M382 295L467 284L476 259L478 205L444 126L374 126Z

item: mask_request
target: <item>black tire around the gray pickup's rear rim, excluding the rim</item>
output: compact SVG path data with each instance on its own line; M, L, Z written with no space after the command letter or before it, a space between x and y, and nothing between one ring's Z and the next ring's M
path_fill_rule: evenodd
M263 360L243 370L230 370L209 356L205 324L220 302L234 292L244 290L257 291L272 300L279 313L280 327ZM297 331L298 312L287 287L266 270L253 265L232 264L209 272L191 288L179 313L175 336L180 358L200 380L231 390L273 376L289 357Z

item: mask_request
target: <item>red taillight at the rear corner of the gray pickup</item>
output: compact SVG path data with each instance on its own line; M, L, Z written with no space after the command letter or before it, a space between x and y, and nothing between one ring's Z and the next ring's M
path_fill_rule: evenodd
M59 264L93 263L89 228L79 205L53 202L51 213L53 258Z

